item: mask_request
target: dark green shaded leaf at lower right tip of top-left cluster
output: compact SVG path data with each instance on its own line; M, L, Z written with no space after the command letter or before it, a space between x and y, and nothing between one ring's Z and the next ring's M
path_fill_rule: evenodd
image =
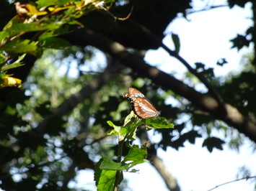
M45 48L53 48L57 50L63 50L70 48L70 44L65 39L57 37L49 37L40 41L40 44Z

